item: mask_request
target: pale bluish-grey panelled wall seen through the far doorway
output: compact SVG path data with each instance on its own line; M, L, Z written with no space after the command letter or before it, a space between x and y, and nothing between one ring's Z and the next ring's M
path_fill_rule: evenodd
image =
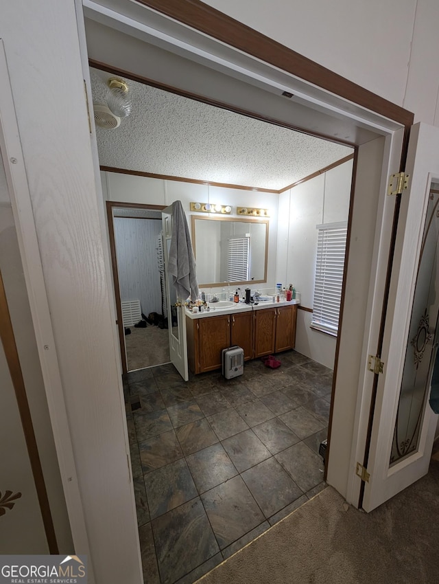
M114 225L121 300L140 300L146 316L162 314L156 249L161 220L115 217Z

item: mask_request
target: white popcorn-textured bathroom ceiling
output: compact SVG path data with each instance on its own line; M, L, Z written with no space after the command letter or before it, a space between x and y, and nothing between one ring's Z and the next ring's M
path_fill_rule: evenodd
M110 77L91 69L94 103L106 103ZM348 146L127 81L131 115L119 128L96 128L102 166L277 190L353 152Z

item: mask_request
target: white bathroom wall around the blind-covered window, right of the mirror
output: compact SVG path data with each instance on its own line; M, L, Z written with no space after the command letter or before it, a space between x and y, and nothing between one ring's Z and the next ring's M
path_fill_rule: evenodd
M294 285L302 307L313 306L316 225L348 220L352 170L350 160L280 196L277 281ZM310 328L311 319L311 312L298 310L296 350L333 368L336 338Z

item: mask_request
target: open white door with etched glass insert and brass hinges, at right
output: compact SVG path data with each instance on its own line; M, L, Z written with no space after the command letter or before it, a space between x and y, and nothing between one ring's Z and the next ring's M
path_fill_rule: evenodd
M364 482L362 507L366 511L428 472L438 420L428 397L439 308L439 193L434 192L439 190L439 128L412 126L405 172L410 179L400 195L379 355L383 372L376 378L367 460L370 477Z

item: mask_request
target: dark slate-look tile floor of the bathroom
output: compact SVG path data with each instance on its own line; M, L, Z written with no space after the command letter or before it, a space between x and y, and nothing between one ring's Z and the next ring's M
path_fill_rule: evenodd
M332 371L282 366L182 381L171 364L124 380L143 575L192 583L326 486Z

